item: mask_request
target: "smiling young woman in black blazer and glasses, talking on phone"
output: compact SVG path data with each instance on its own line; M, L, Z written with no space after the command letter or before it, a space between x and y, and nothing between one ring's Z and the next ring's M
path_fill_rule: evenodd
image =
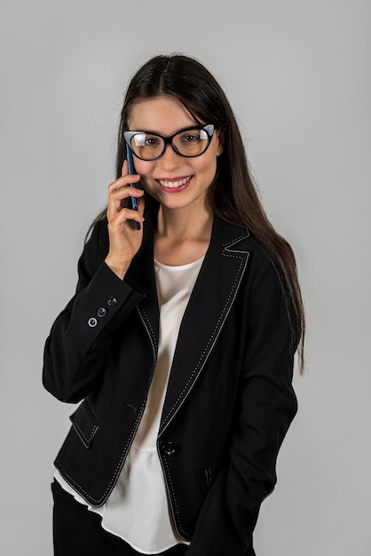
M149 60L45 346L44 386L81 401L55 461L55 554L255 554L303 338L295 258L224 92L197 60Z

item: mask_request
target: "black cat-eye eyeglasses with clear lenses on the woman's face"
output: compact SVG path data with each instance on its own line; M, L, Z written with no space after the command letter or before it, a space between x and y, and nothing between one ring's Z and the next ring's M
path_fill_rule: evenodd
M178 155L186 158L203 155L209 147L214 129L213 123L207 123L187 127L171 137L163 137L151 131L125 131L123 135L133 155L140 160L150 161L160 158L167 145L171 145Z

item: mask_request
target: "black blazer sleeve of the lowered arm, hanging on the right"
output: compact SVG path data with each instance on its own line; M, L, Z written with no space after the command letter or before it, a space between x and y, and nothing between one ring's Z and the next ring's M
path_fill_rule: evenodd
M246 305L241 395L225 465L201 507L187 556L250 556L260 505L276 482L280 445L296 415L291 381L293 311L269 259L259 266ZM243 341L243 340L242 340Z

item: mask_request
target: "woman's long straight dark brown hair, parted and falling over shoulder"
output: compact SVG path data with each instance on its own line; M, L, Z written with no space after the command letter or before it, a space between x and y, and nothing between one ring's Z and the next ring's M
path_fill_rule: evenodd
M276 232L266 216L251 179L241 132L224 91L198 60L181 54L148 60L130 81L124 99L118 132L116 178L126 158L124 131L135 103L159 95L178 99L199 123L214 123L221 132L223 153L217 157L217 173L208 189L207 202L217 216L249 230L266 246L285 277L296 314L296 346L299 369L304 370L304 305L297 277L296 260L288 242ZM151 199L146 197L147 201ZM106 215L104 210L97 217Z

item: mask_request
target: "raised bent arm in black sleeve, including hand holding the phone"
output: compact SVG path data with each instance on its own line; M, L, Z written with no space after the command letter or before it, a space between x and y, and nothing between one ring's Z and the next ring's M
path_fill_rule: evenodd
M104 369L112 331L143 298L123 282L143 238L131 221L144 221L143 191L130 187L138 180L128 175L125 161L122 177L108 187L107 220L95 226L79 260L75 297L46 340L43 385L61 401L75 403L91 392ZM126 206L131 195L138 197L138 211Z

